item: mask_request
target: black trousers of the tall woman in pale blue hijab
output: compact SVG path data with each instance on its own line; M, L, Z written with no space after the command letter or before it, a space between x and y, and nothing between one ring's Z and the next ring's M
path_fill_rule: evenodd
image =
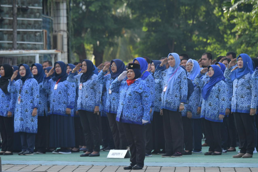
M163 109L166 153L173 155L184 150L184 130L181 112Z

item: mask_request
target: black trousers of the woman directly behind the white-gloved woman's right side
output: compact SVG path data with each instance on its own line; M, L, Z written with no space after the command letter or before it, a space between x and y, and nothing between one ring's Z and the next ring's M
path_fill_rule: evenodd
M151 154L153 149L153 140L152 140L152 121L150 124L144 125L144 133L145 133L145 153Z

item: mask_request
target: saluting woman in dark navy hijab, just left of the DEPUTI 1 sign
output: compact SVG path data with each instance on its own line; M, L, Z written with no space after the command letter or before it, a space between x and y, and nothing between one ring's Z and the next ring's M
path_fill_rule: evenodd
M82 67L81 67L82 66ZM81 67L81 74L74 76L74 73ZM99 134L99 106L101 100L102 85L97 82L97 75L90 60L83 60L69 74L67 80L79 85L77 109L85 136L87 152L81 157L98 157L100 151Z

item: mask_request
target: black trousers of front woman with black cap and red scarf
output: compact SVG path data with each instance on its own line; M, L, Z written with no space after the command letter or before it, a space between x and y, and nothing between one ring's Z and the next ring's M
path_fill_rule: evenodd
M122 123L125 135L130 147L131 166L144 166L145 159L145 139L144 126L137 124Z

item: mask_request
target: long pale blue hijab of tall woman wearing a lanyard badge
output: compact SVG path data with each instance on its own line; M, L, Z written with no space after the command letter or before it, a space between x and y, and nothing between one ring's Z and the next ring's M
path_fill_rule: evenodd
M167 99L167 95L168 95L168 89L170 88L170 94L173 93L173 89L174 89L174 84L178 78L178 76L184 71L184 69L182 67L180 67L180 58L179 58L179 55L177 53L169 53L168 54L168 57L169 56L173 56L175 58L175 66L174 67L171 67L169 66L168 68L168 74L167 74L167 83L168 83L168 88L165 92L165 95L164 95L164 100ZM179 89L179 88L177 88Z

